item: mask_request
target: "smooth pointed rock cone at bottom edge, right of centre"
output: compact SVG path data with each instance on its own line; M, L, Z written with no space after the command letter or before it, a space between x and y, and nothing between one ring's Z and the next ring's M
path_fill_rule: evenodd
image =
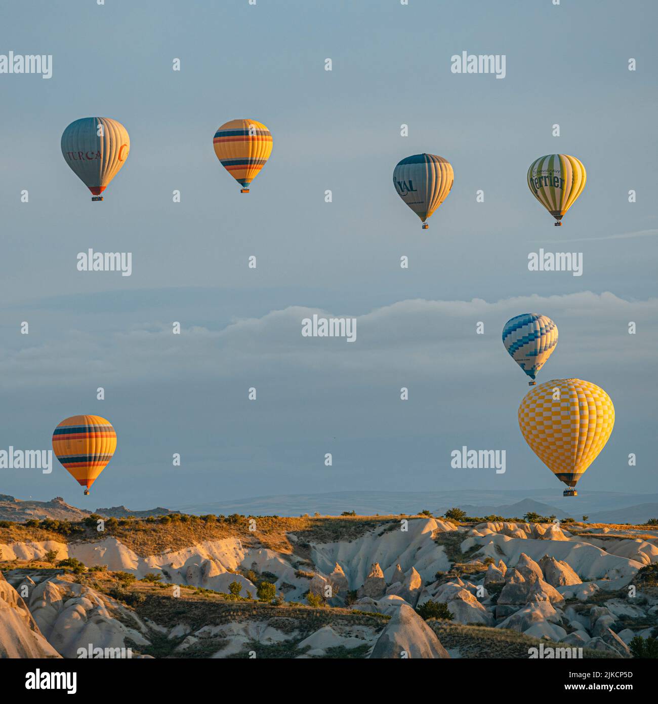
M386 624L370 658L450 658L434 631L407 605Z

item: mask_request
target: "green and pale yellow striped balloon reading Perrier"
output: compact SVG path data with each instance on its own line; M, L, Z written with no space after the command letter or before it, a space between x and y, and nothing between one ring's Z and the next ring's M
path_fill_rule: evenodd
M562 215L583 192L587 174L583 164L569 154L548 154L531 163L528 187L533 196L562 225Z

